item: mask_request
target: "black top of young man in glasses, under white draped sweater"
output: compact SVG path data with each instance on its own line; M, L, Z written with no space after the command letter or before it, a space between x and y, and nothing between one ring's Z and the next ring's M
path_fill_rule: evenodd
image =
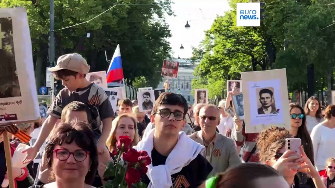
M152 166L165 165L167 156L160 154L156 149L151 151ZM178 160L178 158L176 158ZM173 188L197 188L202 185L208 178L212 170L212 166L207 159L202 155L198 156L191 161L188 166L184 167L180 172L172 174L172 187ZM142 181L149 185L150 180L145 174L142 176Z

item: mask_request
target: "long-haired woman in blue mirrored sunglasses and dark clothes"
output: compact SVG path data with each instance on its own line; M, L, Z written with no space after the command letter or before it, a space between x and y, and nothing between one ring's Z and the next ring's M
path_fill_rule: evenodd
M304 147L304 151L307 157L311 160L314 165L314 153L313 144L309 132L306 128L306 115L303 108L296 103L290 104L290 117L291 117L291 130L290 134L294 138L301 139L301 145ZM314 188L314 183L311 178L308 178L305 173L298 172L297 176L300 179L300 185L308 188Z

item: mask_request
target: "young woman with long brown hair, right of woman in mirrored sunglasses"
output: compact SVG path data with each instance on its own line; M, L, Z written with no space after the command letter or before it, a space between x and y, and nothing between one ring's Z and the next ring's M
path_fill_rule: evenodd
M321 113L321 105L319 98L316 96L311 96L305 105L306 121L307 121L307 131L312 132L313 128L323 121Z

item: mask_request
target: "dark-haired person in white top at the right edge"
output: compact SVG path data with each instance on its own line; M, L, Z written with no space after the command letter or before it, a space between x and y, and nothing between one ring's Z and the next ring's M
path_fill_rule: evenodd
M327 159L335 156L335 105L329 105L326 118L316 125L311 133L314 149L315 167L318 171L326 169Z

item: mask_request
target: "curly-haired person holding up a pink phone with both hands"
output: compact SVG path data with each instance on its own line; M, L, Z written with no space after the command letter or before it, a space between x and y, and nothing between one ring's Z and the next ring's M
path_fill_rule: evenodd
M300 179L296 175L298 171L310 175L315 188L324 188L321 177L307 157L303 146L300 147L301 156L296 155L294 151L285 150L286 138L292 137L289 131L275 126L261 132L257 139L260 162L272 166L283 175L290 188L306 188L300 185Z

